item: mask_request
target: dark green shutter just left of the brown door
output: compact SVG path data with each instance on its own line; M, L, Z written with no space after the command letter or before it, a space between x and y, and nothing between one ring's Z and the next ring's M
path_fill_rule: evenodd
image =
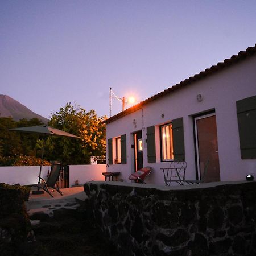
M174 160L185 160L183 118L172 120L172 139Z

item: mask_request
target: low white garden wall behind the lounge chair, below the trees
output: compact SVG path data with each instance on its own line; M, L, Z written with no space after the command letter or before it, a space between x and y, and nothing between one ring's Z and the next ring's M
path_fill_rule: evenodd
M48 170L51 167L42 166L41 177L46 179ZM38 183L40 166L7 166L0 167L0 183L6 184L36 184ZM84 184L87 181L105 180L102 172L106 172L106 164L95 165L77 165L69 166L69 187L75 185L78 180L79 184Z

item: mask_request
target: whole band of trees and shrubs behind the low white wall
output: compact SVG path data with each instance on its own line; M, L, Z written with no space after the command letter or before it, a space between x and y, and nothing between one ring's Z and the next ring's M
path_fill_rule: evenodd
M43 123L33 118L16 122L11 117L0 118L0 166L40 165L42 148L44 162L62 160L65 164L89 164L90 156L104 158L106 152L106 117L97 117L94 110L86 112L68 103L52 114L48 125L75 134L69 137L42 137L34 133L10 131L10 128L38 126Z

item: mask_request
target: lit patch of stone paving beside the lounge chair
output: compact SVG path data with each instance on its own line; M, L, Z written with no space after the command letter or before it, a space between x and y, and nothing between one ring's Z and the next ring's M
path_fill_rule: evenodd
M53 216L53 210L59 208L76 209L79 207L76 199L84 201L86 194L84 187L61 188L63 196L57 191L52 192L54 197L44 192L43 194L30 194L29 200L26 202L27 212L29 215L35 213L46 213Z

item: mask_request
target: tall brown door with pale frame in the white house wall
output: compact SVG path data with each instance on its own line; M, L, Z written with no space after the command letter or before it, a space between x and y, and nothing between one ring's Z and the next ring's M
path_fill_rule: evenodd
M220 181L215 114L195 118L195 127L197 170L199 172L199 177L201 180L204 180L204 182Z

